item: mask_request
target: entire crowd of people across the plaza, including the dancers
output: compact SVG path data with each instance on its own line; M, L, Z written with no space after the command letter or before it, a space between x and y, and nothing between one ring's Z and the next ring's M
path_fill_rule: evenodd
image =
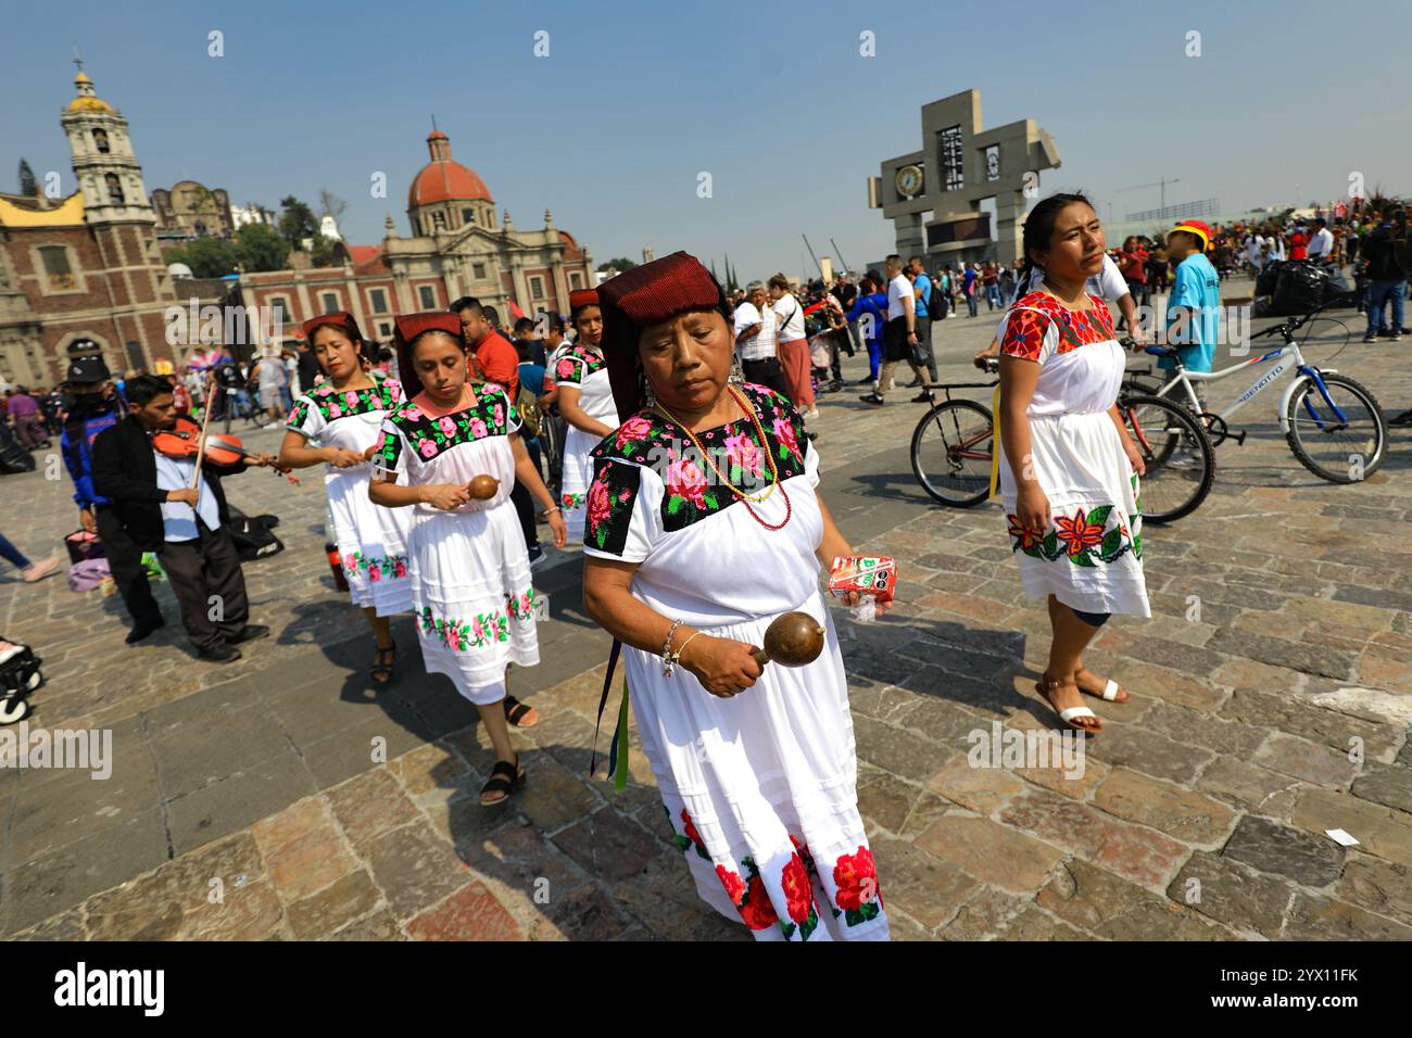
M1368 219L1378 226L1367 236L1357 222L1347 233L1370 264L1370 299L1394 295L1377 287L1402 271L1399 301L1401 208ZM1320 225L1298 247L1337 261L1339 234ZM621 654L623 709L637 716L702 897L761 939L885 939L847 679L819 585L857 559L819 493L809 428L818 397L846 388L840 354L867 353L864 402L882 407L904 364L914 401L926 402L936 323L977 316L981 299L998 312L981 356L998 359L1004 537L1051 619L1035 691L1060 724L1096 736L1103 722L1083 696L1128 696L1083 650L1113 613L1149 616L1145 473L1117 414L1125 349L1107 304L1134 336L1137 306L1155 291L1169 322L1219 312L1220 250L1248 232L1264 257L1275 249L1264 230L1183 220L1161 241L1110 250L1089 201L1063 193L1029 213L1014 267L928 270L890 256L857 280L801 287L775 274L727 294L675 253L575 291L566 319L525 318L508 335L491 306L465 297L398 315L393 349L337 312L305 322L297 352L247 366L116 381L102 357L76 356L52 421L42 400L55 394L23 390L7 395L7 419L27 443L59 438L79 523L100 538L128 613L127 641L165 624L143 565L154 552L192 648L212 662L270 634L250 616L223 480L251 466L322 467L326 539L369 626L370 679L394 679L391 619L411 613L424 671L474 703L494 747L487 809L525 782L510 727L541 722L507 685L511 668L539 661L537 527L558 548L582 544L585 609L613 637L600 716ZM1300 236L1296 226L1291 243ZM1210 326L1189 322L1186 335L1168 342L1187 367L1210 370ZM278 455L172 449L179 419L209 422L241 394L256 421L285 429ZM27 580L58 569L3 538L0 554ZM758 573L770 579L750 579ZM842 597L861 603L857 590ZM816 624L812 662L761 658L786 613Z

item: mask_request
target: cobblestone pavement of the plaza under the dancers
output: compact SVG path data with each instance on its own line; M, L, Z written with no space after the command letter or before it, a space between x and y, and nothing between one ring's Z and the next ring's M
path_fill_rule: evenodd
M974 377L991 328L942 323L943 378ZM1404 356L1354 342L1336 366L1391 414L1412 404ZM894 935L1412 938L1408 432L1382 472L1332 486L1260 398L1200 511L1149 527L1154 617L1114 619L1087 655L1132 699L1096 705L1104 733L1066 778L969 765L971 733L1055 724L1034 691L1048 623L998 508L936 508L916 487L908 395L881 411L829 395L818 422L834 515L904 580L884 620L836 617ZM0 631L45 658L30 724L110 729L116 758L106 781L0 770L0 935L746 939L696 898L641 753L624 795L583 777L609 640L582 613L576 552L537 573L545 662L511 675L544 715L515 736L528 787L484 811L491 754L473 710L421 674L405 619L397 684L374 698L370 638L321 551L318 479L251 472L227 490L277 513L288 545L246 566L274 637L237 664L193 660L165 586L172 623L128 648L116 599L0 575ZM76 525L42 465L0 496L30 555Z

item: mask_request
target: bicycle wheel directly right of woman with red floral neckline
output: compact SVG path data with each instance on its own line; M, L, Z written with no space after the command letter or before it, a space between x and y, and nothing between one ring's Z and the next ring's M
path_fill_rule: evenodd
M1142 521L1175 523L1206 500L1216 479L1216 451L1202 422L1159 397L1118 402L1128 436L1142 453Z

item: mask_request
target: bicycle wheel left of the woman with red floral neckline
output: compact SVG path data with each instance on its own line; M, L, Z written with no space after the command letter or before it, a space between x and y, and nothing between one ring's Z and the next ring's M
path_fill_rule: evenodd
M994 451L990 408L974 400L938 404L912 432L912 475L933 500L969 508L990 496Z

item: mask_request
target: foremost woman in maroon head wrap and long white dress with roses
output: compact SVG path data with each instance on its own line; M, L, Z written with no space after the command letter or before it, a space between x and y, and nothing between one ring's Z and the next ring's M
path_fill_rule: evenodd
M696 888L760 939L885 939L819 587L820 562L850 549L815 490L803 419L731 377L724 297L686 253L599 298L613 395L631 417L594 451L583 597L624 644L638 734ZM825 627L823 652L761 667L751 650L791 610Z

